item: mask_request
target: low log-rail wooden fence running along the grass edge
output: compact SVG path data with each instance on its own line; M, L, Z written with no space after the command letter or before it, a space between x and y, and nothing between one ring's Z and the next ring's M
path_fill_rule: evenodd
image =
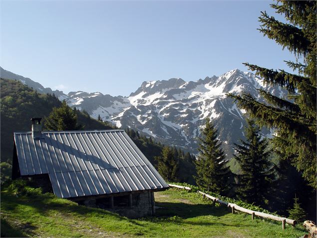
M168 185L169 185L169 186L172 186L172 187L178 187L178 188L183 188L183 189L191 190L190 187L179 186L179 185L175 185L175 184L168 184ZM237 204L235 204L235 203L223 201L223 200L221 200L221 199L219 199L219 198L217 198L217 197L214 197L214 196L211 196L211 195L209 195L209 194L206 194L205 192L202 192L202 191L198 191L198 192L199 192L200 194L202 194L203 197L206 197L207 199L212 200L214 203L217 202L217 203L220 203L220 204L222 204L222 205L227 206L228 208L230 207L232 213L234 213L235 210L238 210L238 211L242 211L242 212L251 214L252 219L254 219L254 216L256 215L256 216L260 216L260 217L264 217L264 218L269 218L269 219L272 219L272 220L282 221L282 228L283 228L283 230L285 229L285 224L286 224L286 223L291 224L291 225L296 225L296 224L297 224L297 221L296 221L296 220L288 219L288 218L285 218L285 217L280 217L280 216L277 216L277 215L267 214L267 213L260 212L260 211L250 210L250 209L241 207L241 206L239 206L239 205L237 205Z

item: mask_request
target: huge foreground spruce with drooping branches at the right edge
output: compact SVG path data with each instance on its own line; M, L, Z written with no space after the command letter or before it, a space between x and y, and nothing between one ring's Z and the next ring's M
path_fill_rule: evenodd
M260 31L296 56L296 62L285 61L294 73L245 63L264 82L280 85L289 92L288 98L259 90L266 102L248 93L228 94L262 125L276 129L275 149L283 153L316 188L316 15L317 1L278 0L271 4L286 23L262 12ZM301 60L303 59L303 62Z

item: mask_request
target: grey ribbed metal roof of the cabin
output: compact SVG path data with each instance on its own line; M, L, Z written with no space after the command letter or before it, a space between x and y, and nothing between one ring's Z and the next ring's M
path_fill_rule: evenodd
M58 197L168 187L124 130L14 132L21 175L48 173Z

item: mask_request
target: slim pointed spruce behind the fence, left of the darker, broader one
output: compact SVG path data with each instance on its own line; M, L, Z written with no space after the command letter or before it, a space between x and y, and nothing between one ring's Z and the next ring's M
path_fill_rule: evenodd
M217 129L209 118L206 119L202 137L199 138L199 156L195 161L198 186L214 192L226 194L229 191L228 182L231 171L227 165L226 155L221 148L222 142L218 137Z

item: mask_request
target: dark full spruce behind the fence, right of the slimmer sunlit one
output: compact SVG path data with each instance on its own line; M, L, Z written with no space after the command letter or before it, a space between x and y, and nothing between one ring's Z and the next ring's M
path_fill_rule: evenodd
M260 127L247 119L245 128L247 141L235 143L235 158L241 167L237 175L237 196L247 202L264 205L274 180L274 166L269 160L268 140L261 139Z

